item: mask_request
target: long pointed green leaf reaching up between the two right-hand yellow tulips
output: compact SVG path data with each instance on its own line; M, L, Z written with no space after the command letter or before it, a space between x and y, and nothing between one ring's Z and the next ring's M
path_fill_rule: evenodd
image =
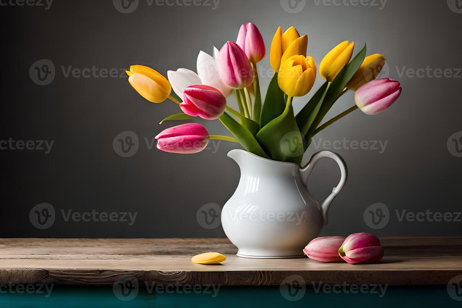
M308 133L306 134L306 146L309 145L308 141L311 140L313 137L313 133L315 132L316 128L321 124L322 119L326 116L329 109L332 108L335 101L340 97L340 94L343 90L345 90L346 84L350 79L353 78L355 72L358 71L359 67L364 61L366 56L366 44L364 44L364 48L350 61L342 70L339 72L337 77L335 77L334 81L330 84L326 96L324 97L324 101L322 102L321 108L316 115L315 120L310 126Z

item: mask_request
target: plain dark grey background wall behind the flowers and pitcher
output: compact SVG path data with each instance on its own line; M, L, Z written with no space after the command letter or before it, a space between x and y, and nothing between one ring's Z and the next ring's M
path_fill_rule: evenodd
M404 89L389 110L376 116L356 111L318 136L388 142L383 153L335 150L350 174L322 235L365 231L378 236L462 236L460 221L400 221L395 214L462 211L462 158L451 154L455 144L447 146L450 136L462 131L462 9L456 8L456 0L388 0L384 6L378 0L358 6L348 5L354 0L302 0L292 2L299 5L296 11L305 5L297 13L287 12L287 0L220 0L215 9L212 1L196 2L201 6L179 6L176 3L187 2L178 1L159 6L154 0L150 6L139 0L131 13L117 11L118 0L115 5L110 0L55 0L49 9L46 3L0 7L0 140L54 140L48 154L0 151L1 237L225 236L220 226L202 228L196 212L208 203L224 205L233 193L239 170L226 153L238 145L222 142L216 152L212 147L188 156L164 153L155 146L150 150L145 138L150 142L162 129L180 124L157 124L177 112L174 103L147 102L128 85L126 76L78 78L66 77L65 72L69 66L123 71L131 64L164 74L179 67L195 70L200 50L211 53L213 45L235 40L239 26L249 21L259 27L267 45L260 66L270 67L269 45L277 27L294 25L308 34L308 54L318 65L338 42L356 42L356 52L367 42L368 54L387 57L383 76L398 79ZM41 59L55 66L49 85L37 85L32 80L36 77L30 77L31 66ZM454 76L436 78L425 72L420 78L408 71L427 66L450 69ZM315 88L322 81L318 75ZM261 77L263 89L268 83L268 77ZM295 100L295 111L312 93ZM346 94L327 118L353 103L353 93ZM227 134L218 121L199 122L213 134ZM139 149L131 157L121 157L113 148L113 140L124 131L139 138ZM304 161L321 149L311 147ZM310 190L321 201L338 177L336 165L322 161L310 178ZM55 221L47 229L34 227L29 216L41 203L55 210ZM389 223L381 229L371 229L363 218L375 203L389 209ZM138 214L128 225L66 221L61 210Z

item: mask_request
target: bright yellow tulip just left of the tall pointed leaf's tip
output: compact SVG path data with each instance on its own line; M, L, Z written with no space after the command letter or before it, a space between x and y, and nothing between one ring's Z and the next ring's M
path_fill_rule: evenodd
M341 42L322 59L319 65L321 77L332 82L338 73L351 59L353 54L354 42Z

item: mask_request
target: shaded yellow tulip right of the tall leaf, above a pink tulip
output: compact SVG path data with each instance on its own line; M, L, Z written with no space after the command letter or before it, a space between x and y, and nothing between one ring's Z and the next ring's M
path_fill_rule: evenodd
M369 81L376 79L377 75L385 64L383 54L371 54L365 57L363 64L358 71L354 73L353 78L348 82L346 87L353 91L358 90L361 85L365 85Z

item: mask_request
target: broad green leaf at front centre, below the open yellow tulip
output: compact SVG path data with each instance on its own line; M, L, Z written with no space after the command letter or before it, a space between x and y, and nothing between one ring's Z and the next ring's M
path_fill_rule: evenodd
M298 130L291 103L287 103L282 115L261 128L256 136L264 151L272 159L281 162L302 163L303 136Z

